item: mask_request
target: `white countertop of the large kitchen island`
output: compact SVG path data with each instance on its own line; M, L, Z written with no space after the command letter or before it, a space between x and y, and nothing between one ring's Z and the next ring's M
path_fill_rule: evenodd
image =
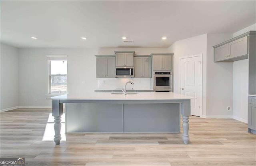
M190 96L172 92L140 92L139 94L111 94L89 92L86 94L64 94L47 99L51 100L189 100Z

